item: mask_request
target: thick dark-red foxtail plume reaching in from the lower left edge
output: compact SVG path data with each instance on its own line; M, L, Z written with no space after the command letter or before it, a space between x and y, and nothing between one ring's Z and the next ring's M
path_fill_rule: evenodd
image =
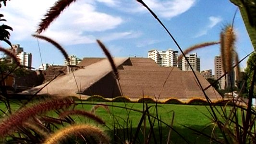
M5 137L7 134L17 130L28 118L33 118L49 110L68 108L72 104L74 104L73 99L54 98L39 102L31 107L22 108L0 123L0 137Z

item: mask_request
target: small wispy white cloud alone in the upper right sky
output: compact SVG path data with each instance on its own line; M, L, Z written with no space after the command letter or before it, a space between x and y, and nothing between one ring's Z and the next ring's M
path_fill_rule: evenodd
M202 28L196 35L194 38L196 37L200 37L200 36L204 36L207 34L207 32L212 29L215 25L219 24L222 21L221 17L215 17L215 16L210 16L208 17L209 19L209 23L207 24L207 26L205 28Z

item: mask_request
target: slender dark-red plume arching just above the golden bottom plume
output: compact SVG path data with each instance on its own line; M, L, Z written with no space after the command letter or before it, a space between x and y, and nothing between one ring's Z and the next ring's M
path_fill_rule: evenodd
M86 118L90 118L92 120L95 120L99 124L105 124L105 121L99 118L98 116L92 114L91 112L87 112L85 110L68 110L60 114L60 118L64 118L70 115L81 115L85 116Z

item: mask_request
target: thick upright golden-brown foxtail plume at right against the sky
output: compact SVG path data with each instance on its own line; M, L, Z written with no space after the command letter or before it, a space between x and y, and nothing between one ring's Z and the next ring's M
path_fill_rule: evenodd
M226 26L224 33L224 57L227 72L232 70L232 52L234 50L235 33L231 25ZM222 60L224 61L224 60Z

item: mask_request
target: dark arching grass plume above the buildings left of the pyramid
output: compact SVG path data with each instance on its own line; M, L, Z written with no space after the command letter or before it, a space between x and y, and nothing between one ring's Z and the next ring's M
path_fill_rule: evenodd
M70 60L69 60L69 57L68 57L68 53L66 52L66 50L65 50L64 48L62 48L61 45L58 44L58 43L57 43L56 41L54 41L53 39L51 39L51 38L49 38L49 37L46 37L46 36L42 36L42 35L32 35L32 36L37 37L37 38L39 38L39 39L43 39L43 40L45 40L45 41L48 41L49 43L51 43L53 46L55 46L56 48L58 48L58 49L61 51L62 55L65 57L65 59L66 59L67 61L70 61Z

